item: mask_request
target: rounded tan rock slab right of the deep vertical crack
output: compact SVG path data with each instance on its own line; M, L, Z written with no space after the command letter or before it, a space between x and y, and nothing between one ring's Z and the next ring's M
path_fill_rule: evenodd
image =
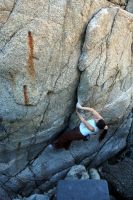
M99 108L110 123L132 108L132 32L132 15L119 8L101 9L86 30L78 97Z

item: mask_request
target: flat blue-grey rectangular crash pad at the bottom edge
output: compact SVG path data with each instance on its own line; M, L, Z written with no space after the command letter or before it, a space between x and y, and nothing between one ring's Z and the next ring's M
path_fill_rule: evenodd
M109 200L105 180L66 180L57 186L57 200Z

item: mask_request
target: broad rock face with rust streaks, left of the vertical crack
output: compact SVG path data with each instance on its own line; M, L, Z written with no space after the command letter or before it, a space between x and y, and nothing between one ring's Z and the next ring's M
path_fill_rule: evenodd
M0 158L8 162L4 152L11 163L23 160L20 169L68 124L83 34L92 15L108 3L11 2L2 1L0 7L4 16L9 4L0 29L0 116L5 126Z

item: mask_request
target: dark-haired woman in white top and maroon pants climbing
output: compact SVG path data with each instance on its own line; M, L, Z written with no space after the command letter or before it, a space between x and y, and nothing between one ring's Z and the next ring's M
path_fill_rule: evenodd
M80 110L91 112L93 119L86 121L79 113ZM79 103L77 103L76 113L81 120L80 125L72 130L63 132L50 146L57 149L68 149L72 141L86 140L88 135L90 136L99 134L99 141L104 139L105 135L107 134L108 126L106 125L103 117L96 110L89 107L82 107Z

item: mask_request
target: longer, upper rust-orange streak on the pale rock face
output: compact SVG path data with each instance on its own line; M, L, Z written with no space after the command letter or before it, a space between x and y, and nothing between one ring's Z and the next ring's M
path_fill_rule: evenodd
M28 32L28 47L29 47L29 57L28 57L28 72L32 78L35 78L35 68L34 68L34 40L31 31Z

